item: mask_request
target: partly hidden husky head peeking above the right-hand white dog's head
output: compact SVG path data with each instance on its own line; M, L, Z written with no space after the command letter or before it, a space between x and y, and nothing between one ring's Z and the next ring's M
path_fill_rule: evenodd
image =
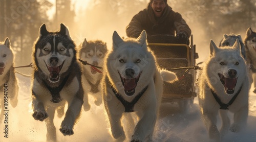
M241 35L224 34L219 46L233 46L237 39L239 40L240 45L243 44Z

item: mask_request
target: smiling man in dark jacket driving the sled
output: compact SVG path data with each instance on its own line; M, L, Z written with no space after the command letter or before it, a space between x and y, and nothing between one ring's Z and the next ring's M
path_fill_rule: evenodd
M151 0L147 8L136 14L126 27L128 37L138 38L142 30L152 35L175 35L176 43L189 44L191 30L181 14L174 12L167 0Z

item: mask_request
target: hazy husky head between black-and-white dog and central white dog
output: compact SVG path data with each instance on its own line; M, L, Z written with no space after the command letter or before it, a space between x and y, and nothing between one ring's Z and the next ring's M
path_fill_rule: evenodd
M107 51L106 42L101 40L87 41L84 38L78 52L78 57L92 65L102 66ZM97 75L97 70L90 65L84 65L83 70L86 70L86 74Z

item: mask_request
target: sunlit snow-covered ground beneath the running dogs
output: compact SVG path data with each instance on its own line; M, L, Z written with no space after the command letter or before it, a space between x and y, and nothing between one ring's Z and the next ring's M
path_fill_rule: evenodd
M9 133L4 137L4 124L0 127L0 141L46 141L46 126L44 122L36 121L30 111L30 78L17 74L19 80L18 105L9 107ZM9 86L11 89L11 86ZM256 94L249 93L249 116L247 127L239 133L229 132L223 141L256 141ZM109 133L104 106L95 106L89 96L91 109L82 112L79 122L74 126L74 135L63 136L58 130L63 120L55 117L55 127L58 141L114 141ZM229 113L232 120L232 114ZM218 119L218 127L221 126ZM127 126L124 126L127 127ZM127 136L125 141L129 141ZM181 112L178 104L165 103L160 109L160 117L155 127L154 141L209 141L205 126L201 120L198 99L187 111Z

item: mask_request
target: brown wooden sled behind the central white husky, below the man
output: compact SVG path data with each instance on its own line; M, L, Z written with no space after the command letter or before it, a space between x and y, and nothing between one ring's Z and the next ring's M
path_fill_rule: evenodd
M154 35L147 38L148 46L157 57L157 62L161 68L172 70L179 80L175 83L164 82L162 103L178 103L180 109L185 111L188 104L193 104L196 94L196 69L187 67L196 66L196 45L177 43L172 35ZM184 69L181 69L184 68Z

